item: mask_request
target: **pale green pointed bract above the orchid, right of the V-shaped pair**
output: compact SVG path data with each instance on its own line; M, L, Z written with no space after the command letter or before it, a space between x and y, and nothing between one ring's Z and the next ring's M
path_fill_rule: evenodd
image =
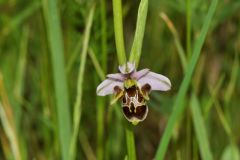
M130 62L135 62L136 66L140 60L142 42L145 31L145 24L147 19L147 11L148 11L148 0L141 0L139 9L138 9L138 17L136 24L136 31L133 40L133 45L131 49L131 55L129 58Z

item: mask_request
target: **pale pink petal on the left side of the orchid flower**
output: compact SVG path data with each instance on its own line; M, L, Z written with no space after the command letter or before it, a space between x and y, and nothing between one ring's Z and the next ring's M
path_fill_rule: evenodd
M108 94L115 93L114 87L119 86L123 88L123 82L114 80L114 79L106 79L97 87L97 95L98 96L106 96Z

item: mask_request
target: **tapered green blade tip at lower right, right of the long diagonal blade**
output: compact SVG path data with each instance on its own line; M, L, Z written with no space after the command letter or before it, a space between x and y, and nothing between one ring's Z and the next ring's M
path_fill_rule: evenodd
M206 127L204 125L199 102L194 94L191 97L191 111L193 115L193 124L198 145L200 148L201 157L204 160L211 160L213 159L213 156L208 143L209 141L207 137Z

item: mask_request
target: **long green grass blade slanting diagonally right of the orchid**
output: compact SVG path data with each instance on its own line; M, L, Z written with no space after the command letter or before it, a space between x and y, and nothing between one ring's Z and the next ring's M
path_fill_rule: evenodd
M203 46L203 42L206 38L207 31L208 31L209 26L210 26L210 22L213 18L215 10L216 10L217 3L218 3L218 0L213 0L211 2L210 7L209 7L209 11L208 11L206 19L204 21L204 25L203 25L203 28L201 30L200 36L197 39L196 44L194 46L193 55L191 57L189 65L187 66L186 75L184 76L183 82L180 86L180 90L179 90L177 98L176 98L176 101L174 103L173 113L169 118L169 122L168 122L167 127L165 129L165 132L163 134L161 143L158 147L155 159L158 159L158 160L164 159L164 155L166 153L166 150L167 150L167 147L168 147L168 144L169 144L172 132L173 132L173 128L174 128L177 120L181 116L182 112L185 109L185 106L183 105L184 98L186 96L188 87L190 85L191 78L192 78L192 75L193 75L193 71L196 67L196 63L197 63L197 60L199 58L201 48Z

